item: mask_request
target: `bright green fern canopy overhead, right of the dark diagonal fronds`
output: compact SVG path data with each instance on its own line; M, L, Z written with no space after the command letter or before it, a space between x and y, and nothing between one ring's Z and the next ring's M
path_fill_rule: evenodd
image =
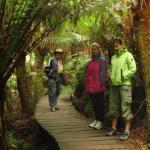
M97 41L107 49L105 41L110 42L114 37L122 36L123 16L127 15L132 2L128 0L87 0L86 4L84 1L80 3L78 9L76 8L78 13L76 12L74 17L63 23L61 32L55 33L57 43L79 43L78 38L75 37L77 33L83 41Z

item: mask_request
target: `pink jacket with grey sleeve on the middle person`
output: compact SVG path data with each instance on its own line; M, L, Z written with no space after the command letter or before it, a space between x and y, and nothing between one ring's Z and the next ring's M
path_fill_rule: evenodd
M104 57L92 58L85 69L85 90L88 93L103 92L107 87L107 79L107 60Z

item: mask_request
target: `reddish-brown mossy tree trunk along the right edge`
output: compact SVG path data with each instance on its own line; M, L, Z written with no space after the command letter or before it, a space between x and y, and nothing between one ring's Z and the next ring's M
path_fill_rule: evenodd
M135 9L134 24L136 25L136 39L138 52L142 65L142 74L145 82L147 119L148 119L148 142L150 143L150 1L138 3Z

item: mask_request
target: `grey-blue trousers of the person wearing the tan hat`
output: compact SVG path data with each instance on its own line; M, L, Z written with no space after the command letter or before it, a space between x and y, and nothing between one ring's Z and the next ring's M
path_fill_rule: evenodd
M57 98L60 94L61 81L48 79L48 100L49 106L55 107L57 105Z

